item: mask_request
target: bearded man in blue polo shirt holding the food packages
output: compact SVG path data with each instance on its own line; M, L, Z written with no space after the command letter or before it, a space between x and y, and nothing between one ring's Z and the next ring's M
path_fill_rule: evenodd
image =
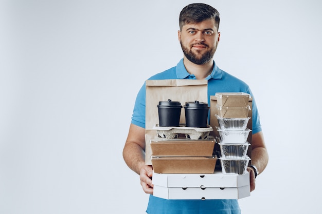
M149 80L205 79L208 81L208 103L216 92L245 92L253 98L252 107L252 166L249 172L251 191L255 178L268 162L262 128L254 95L248 85L235 76L221 70L213 60L220 41L219 12L206 4L190 4L180 13L178 40L184 56L175 66L150 77ZM147 213L240 213L237 200L166 200L153 196L153 168L145 162L145 106L146 86L138 92L128 138L123 149L127 165L139 174L143 190L150 194Z

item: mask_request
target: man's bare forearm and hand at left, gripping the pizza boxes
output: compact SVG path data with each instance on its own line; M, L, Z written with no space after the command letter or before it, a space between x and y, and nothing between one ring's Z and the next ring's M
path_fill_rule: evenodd
M152 166L145 163L145 129L130 125L127 141L123 148L123 158L127 165L140 175L141 186L146 193L153 193Z

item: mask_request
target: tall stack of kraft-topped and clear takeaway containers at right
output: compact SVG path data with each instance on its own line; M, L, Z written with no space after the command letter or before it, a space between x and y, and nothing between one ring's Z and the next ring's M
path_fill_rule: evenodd
M219 127L216 127L220 138L220 162L224 174L244 174L251 160L247 155L249 143L247 138L251 129L247 128L249 118L249 94L216 93L216 114Z

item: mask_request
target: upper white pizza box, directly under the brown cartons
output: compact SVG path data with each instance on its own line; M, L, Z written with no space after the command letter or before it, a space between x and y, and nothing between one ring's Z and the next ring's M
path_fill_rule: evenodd
M155 173L152 184L162 187L241 187L249 185L249 173L223 174L215 171L212 174L176 174Z

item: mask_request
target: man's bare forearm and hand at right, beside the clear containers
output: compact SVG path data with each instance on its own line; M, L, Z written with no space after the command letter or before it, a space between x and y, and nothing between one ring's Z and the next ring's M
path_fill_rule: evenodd
M267 153L263 132L260 131L252 135L252 165L258 169L258 174L264 171L269 162L269 154ZM251 179L251 191L255 189L255 173L251 167L247 168Z

